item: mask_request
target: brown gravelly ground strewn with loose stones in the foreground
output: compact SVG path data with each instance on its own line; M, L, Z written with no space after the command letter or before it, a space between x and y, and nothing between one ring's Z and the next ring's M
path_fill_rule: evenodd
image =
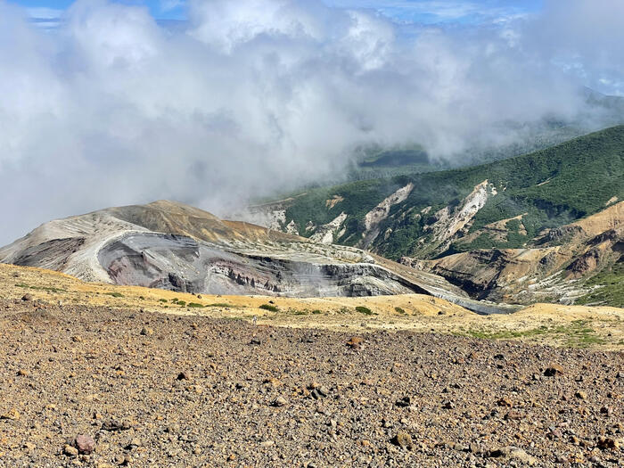
M623 466L624 355L0 301L0 466Z

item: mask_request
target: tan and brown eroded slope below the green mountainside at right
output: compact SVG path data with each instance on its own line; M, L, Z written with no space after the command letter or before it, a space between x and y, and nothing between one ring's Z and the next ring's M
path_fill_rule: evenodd
M572 303L599 289L600 285L587 284L587 280L620 265L623 252L624 201L547 230L524 249L471 250L441 259L403 258L401 262L442 275L475 298ZM624 290L624 281L620 287Z

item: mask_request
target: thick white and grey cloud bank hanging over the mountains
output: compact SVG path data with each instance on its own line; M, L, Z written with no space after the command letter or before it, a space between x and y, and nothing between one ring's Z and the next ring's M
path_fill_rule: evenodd
M316 0L189 4L182 28L79 0L57 29L0 0L0 244L49 218L168 198L219 211L335 174L359 144L432 157L508 143L624 92L624 4L571 0L479 27Z

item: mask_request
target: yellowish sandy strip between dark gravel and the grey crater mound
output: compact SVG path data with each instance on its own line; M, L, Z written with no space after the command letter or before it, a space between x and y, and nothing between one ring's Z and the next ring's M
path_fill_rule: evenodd
M518 339L554 346L624 349L624 309L536 304L513 315L479 316L446 300L420 294L369 298L201 297L174 291L84 283L50 270L0 265L0 298L56 304L143 308L178 315L251 320L276 326L352 330L411 330ZM176 301L177 300L177 301ZM185 306L180 305L185 302ZM188 304L202 308L189 308ZM276 311L260 308L274 306ZM357 308L360 308L358 311Z

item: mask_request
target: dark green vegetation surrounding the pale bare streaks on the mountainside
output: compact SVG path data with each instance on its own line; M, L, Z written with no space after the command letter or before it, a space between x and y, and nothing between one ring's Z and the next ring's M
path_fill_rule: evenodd
M497 160L471 168L378 178L333 187L317 188L299 196L286 210L286 223L291 219L300 234L309 235L308 221L323 225L348 214L346 232L337 240L354 245L365 231L365 213L398 188L415 185L406 201L390 210L390 217L380 226L380 235L369 246L390 259L401 256L427 257L431 252L422 245L431 244L427 226L436 222L435 213L448 207L461 207L475 185L488 180L497 194L489 198L474 218L468 234L475 239L455 239L444 254L476 248L522 247L548 227L568 224L600 209L613 196L624 198L624 126L607 128L563 144L527 155ZM344 200L333 208L326 201ZM427 213L422 210L431 209ZM523 215L521 221L507 223L507 235L494 238L478 232L483 226ZM391 229L391 231L388 231ZM436 253L436 255L438 255Z

